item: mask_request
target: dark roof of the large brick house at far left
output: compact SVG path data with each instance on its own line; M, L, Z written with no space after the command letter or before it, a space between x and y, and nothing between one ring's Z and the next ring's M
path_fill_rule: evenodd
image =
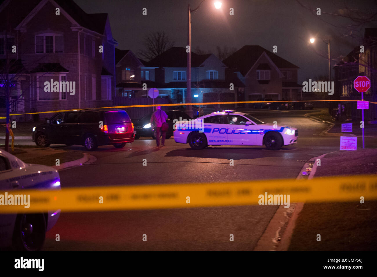
M87 14L73 0L11 0L0 6L0 18L7 18L12 29L16 28L35 8L42 8L44 4L51 2L60 6L80 26L104 34L107 14ZM34 11L35 12L35 11ZM1 20L0 29L5 29L7 20Z

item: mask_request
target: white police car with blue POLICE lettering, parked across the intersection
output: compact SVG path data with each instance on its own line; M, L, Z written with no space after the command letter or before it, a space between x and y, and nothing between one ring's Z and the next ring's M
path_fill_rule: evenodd
M196 120L176 122L175 142L189 143L193 149L208 145L265 145L268 150L297 142L296 128L265 123L236 110L213 112Z

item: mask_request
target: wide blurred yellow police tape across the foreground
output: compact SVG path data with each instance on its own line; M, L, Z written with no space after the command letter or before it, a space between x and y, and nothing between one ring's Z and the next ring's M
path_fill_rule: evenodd
M11 193L29 194L30 207L9 205ZM289 194L287 199L290 203L352 201L360 204L360 197L364 197L366 202L377 199L377 176L0 191L0 213L34 213L58 209L79 212L257 205L262 201L261 195L267 195L268 199L270 194ZM8 205L5 205L7 199ZM262 202L268 204L267 199Z

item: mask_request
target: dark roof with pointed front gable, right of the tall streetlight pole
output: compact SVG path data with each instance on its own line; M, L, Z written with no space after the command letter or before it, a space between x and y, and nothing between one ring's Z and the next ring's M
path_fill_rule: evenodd
M226 58L223 63L230 68L238 69L245 76L263 52L267 54L277 68L300 68L259 45L245 45Z

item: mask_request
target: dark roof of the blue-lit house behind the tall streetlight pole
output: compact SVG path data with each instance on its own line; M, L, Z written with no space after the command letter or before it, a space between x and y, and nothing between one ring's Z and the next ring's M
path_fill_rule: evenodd
M198 55L191 52L191 67L199 67L212 54ZM185 47L171 47L152 60L143 63L148 67L187 67Z

